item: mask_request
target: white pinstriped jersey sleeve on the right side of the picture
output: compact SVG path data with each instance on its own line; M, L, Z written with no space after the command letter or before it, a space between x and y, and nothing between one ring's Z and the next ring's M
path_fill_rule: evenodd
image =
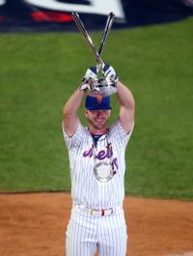
M128 140L132 134L134 125L131 130L126 133L122 126L121 120L118 119L110 128L110 134L113 137L113 140L116 141L121 147L126 147Z

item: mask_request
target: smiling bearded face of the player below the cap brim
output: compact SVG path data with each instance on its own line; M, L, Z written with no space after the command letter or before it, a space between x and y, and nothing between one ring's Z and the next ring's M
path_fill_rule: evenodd
M89 125L96 129L107 128L111 110L86 110L85 115Z

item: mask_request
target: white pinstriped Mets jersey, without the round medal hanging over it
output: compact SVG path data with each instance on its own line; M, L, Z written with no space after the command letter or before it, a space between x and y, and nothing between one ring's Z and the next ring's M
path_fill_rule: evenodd
M94 152L94 139L88 128L78 125L72 137L63 128L65 142L69 150L71 177L71 197L74 203L88 208L110 209L123 205L124 201L124 153L132 131L124 132L120 120L97 141ZM116 170L113 178L106 183L96 180L94 166L99 161L111 160ZM96 154L96 160L95 160Z

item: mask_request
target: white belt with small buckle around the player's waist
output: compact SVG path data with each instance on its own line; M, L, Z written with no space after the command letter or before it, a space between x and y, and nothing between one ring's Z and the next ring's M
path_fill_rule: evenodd
M116 213L117 211L123 209L123 205L109 208L109 209L94 209L94 208L88 208L84 205L79 205L79 204L73 203L73 209L79 210L81 213L87 213L88 215L106 216L106 215L112 215L112 214Z

